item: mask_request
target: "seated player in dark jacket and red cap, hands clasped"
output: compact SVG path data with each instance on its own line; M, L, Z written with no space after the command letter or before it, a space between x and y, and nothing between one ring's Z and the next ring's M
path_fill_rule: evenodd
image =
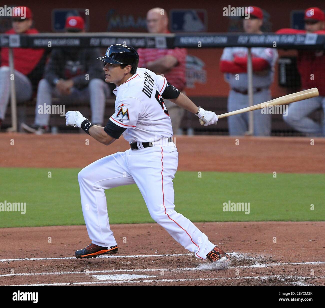
M70 16L66 19L65 30L85 32L85 22L80 16ZM90 102L93 123L102 125L105 101L111 91L103 80L102 66L96 61L100 55L97 48L53 48L44 78L38 84L34 123L22 123L21 127L29 133L49 132L50 114L40 110L51 106L53 97L65 105ZM41 108L44 104L46 108Z

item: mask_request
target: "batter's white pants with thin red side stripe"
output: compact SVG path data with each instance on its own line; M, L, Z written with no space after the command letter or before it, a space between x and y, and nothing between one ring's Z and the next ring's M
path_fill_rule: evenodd
M155 145L158 144L159 141ZM206 259L215 245L189 219L174 210L172 180L177 165L178 151L174 142L170 142L117 152L85 167L78 174L78 181L85 224L92 243L103 247L117 245L110 230L104 190L136 184L152 219L197 258Z

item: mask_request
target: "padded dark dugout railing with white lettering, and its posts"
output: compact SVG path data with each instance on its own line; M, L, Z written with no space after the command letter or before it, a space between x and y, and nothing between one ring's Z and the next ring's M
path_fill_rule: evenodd
M285 56L279 57L276 64L281 71L278 82L280 86L286 88L286 94L299 91L299 74L296 70L296 50L324 50L325 35L317 34L296 34L285 35L275 33L264 33L259 35L245 33L194 33L194 34L147 34L147 33L42 33L32 35L0 35L0 47L9 48L10 70L13 74L13 53L14 48L46 48L51 50L56 47L91 47L91 48L107 48L112 44L127 44L135 48L224 48L224 47L247 47L248 48L248 97L249 104L253 105L253 84L252 84L252 47L269 47L277 48L286 52ZM287 54L291 50L292 53ZM219 61L220 59L215 59ZM206 63L209 65L210 63ZM283 73L284 72L284 73ZM222 74L216 72L216 74ZM324 73L325 74L325 73ZM325 76L324 76L325 77ZM208 82L211 82L208 80ZM10 131L18 130L17 121L17 103L15 95L14 80L10 81L10 115L11 128ZM204 105L205 109L214 110L217 114L227 111L227 98L213 97L200 98L195 97L196 105ZM113 110L113 101L108 103ZM30 105L34 102L30 102ZM34 107L34 106L33 106ZM24 117L24 110L19 112L19 117ZM85 111L86 112L86 111ZM316 111L312 118L321 120L323 113L321 110ZM250 113L249 130L247 134L253 133L253 113ZM220 121L220 125L212 127L201 127L195 116L186 112L182 121L184 129L192 128L196 133L216 133L227 134L226 121ZM298 134L289 128L282 120L281 115L272 116L272 135L294 135Z

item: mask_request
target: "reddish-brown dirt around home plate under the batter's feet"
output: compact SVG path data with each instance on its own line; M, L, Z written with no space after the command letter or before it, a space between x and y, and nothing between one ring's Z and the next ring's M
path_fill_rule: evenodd
M216 271L210 261L188 254L157 224L112 225L118 254L90 260L75 259L73 255L74 250L89 244L85 226L6 228L0 230L1 285L325 283L324 222L196 225L212 242L230 253L227 270Z

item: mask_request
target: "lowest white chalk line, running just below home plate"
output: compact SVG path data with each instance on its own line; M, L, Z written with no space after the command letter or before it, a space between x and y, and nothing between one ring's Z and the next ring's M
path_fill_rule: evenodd
M93 282L60 282L49 284L32 284L32 285L13 285L13 286L67 286L67 285L99 285L99 284L117 284L117 283L150 283L150 282L180 282L180 281L211 281L211 280L238 280L238 279L261 279L266 280L270 278L277 278L281 281L287 279L311 279L311 278L325 278L325 276L244 276L244 277L218 277L218 278L186 278L186 279L152 279L152 280L120 280L120 281L93 281ZM289 282L291 283L291 282Z

